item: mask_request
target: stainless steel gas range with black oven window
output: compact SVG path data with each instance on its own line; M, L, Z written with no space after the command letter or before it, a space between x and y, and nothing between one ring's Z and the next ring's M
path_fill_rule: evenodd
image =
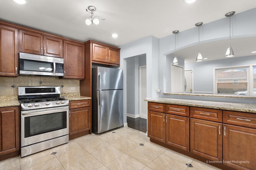
M18 87L21 157L68 143L68 100L59 86Z

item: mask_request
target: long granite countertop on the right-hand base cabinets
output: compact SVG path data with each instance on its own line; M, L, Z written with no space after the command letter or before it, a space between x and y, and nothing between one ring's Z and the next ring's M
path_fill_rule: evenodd
M255 104L237 104L237 103L210 102L210 101L201 101L201 100L184 100L184 99L171 99L171 98L147 98L144 101L256 113Z

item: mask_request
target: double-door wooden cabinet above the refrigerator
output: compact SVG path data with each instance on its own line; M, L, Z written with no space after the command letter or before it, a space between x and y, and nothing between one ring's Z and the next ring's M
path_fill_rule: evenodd
M92 63L120 65L120 49L96 41L92 42Z

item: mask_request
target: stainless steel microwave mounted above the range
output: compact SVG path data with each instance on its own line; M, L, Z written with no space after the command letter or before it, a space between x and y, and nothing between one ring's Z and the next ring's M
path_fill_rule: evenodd
M64 76L64 59L20 53L20 75Z

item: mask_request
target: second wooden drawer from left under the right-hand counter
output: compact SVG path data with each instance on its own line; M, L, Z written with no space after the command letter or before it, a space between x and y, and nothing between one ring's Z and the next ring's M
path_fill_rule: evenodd
M189 107L173 104L166 104L166 113L189 117Z

